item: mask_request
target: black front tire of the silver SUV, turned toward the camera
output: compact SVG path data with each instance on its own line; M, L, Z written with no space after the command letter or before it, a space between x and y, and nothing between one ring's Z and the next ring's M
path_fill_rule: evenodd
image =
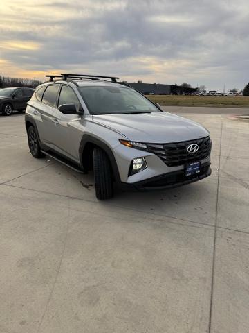
M100 148L93 149L93 172L95 178L95 192L99 200L113 197L113 180L111 164L107 154Z

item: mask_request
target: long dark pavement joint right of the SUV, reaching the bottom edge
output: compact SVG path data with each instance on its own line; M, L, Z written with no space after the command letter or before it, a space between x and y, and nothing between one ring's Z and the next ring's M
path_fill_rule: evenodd
M217 232L217 217L218 217L218 204L219 204L219 175L221 169L221 144L222 144L222 133L223 133L223 122L221 123L221 137L220 137L220 155L218 164L218 182L216 191L216 214L215 214L215 224L214 224L214 246L213 246L213 257L212 257L212 278L211 278L211 295L210 295L210 314L208 323L208 332L211 333L212 329L212 308L214 302L214 273L215 273L215 257L216 257L216 232Z

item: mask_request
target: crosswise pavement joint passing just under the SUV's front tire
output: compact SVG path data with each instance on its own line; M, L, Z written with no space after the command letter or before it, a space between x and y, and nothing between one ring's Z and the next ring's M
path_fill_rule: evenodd
M64 194L57 194L57 193L53 193L53 192L41 191L41 190L38 190L38 189L28 189L26 187L20 187L20 186L17 186L17 185L11 185L11 184L2 184L2 185L9 186L9 187L15 187L17 189L26 189L27 191L34 191L34 192L42 193L42 194L49 194L51 196L60 196L62 198L70 198L70 199L73 199L73 200L86 201L88 203L95 203L95 204L98 203L98 201L95 201L95 200L88 200L88 199L77 198L77 197L73 197L73 196L66 196ZM133 208L123 207L123 206L120 206L120 205L111 205L111 204L108 204L108 203L105 203L105 205L108 205L110 207L121 208L122 210L128 210L130 212L139 212L139 213L145 213L145 214L149 214L149 215L161 216L161 217L165 217L165 218L168 218L168 219L175 219L175 220L178 220L178 221L184 221L184 222L194 223L196 225L202 225L203 227L208 226L208 227L214 228L214 225L210 224L210 223L201 223L201 222L196 222L196 221L191 221L191 220L185 220L185 219L180 219L180 218L174 217L174 216L157 214L155 212L144 212L143 210L134 210ZM80 211L80 212L84 212L84 211Z

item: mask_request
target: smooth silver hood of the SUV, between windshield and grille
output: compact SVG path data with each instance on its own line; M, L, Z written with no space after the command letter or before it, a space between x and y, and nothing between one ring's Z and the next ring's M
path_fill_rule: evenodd
M93 115L93 121L117 130L136 142L181 142L209 135L199 123L167 112Z

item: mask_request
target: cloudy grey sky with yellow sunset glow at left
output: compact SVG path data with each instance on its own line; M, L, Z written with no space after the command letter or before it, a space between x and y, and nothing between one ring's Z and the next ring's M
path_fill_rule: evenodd
M249 81L248 0L0 0L0 75L223 91Z

